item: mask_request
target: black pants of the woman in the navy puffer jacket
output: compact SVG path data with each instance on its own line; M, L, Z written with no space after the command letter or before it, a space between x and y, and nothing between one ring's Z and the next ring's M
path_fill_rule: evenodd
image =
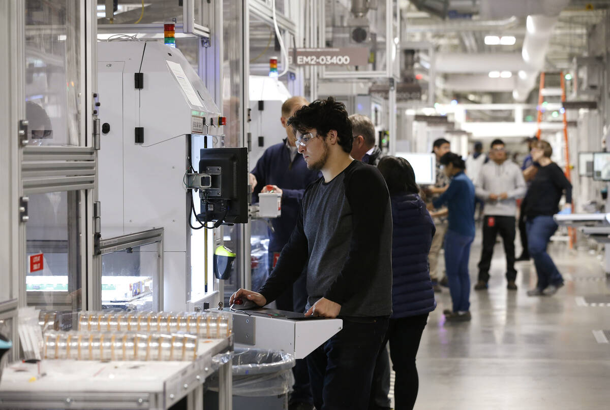
M417 356L426 322L428 322L428 313L390 319L386 340L379 352L375 372L373 373L369 410L390 408L390 400L387 397L390 391L390 362L387 358L387 342L390 343L392 369L396 373L394 409L411 410L415 406L415 399L419 390L415 356Z

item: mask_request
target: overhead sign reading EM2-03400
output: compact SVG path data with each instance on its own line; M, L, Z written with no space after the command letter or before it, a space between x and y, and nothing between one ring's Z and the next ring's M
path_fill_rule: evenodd
M366 47L290 49L289 63L295 65L348 66L367 65Z

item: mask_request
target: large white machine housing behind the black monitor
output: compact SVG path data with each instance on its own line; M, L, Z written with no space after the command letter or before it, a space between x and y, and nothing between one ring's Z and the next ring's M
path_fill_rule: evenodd
M158 42L99 42L98 90L101 124L110 125L107 133L102 125L99 150L102 238L163 227L163 305L157 308L187 310L191 244L209 235L188 226L190 199L182 182L187 135L196 169L204 138L212 147L212 136L204 135L223 133L220 110L179 49ZM206 127L203 119L216 126ZM142 143L135 142L136 127L142 127Z

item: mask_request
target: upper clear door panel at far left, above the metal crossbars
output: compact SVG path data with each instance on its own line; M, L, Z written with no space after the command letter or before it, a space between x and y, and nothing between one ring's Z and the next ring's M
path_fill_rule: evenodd
M32 145L79 145L82 7L73 0L26 1L26 118Z

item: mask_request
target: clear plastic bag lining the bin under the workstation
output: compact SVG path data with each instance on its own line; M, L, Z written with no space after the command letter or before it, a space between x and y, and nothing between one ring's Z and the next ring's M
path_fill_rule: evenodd
M233 395L268 397L287 394L295 383L295 358L277 350L235 349L233 354ZM210 389L218 391L218 378L210 379Z

